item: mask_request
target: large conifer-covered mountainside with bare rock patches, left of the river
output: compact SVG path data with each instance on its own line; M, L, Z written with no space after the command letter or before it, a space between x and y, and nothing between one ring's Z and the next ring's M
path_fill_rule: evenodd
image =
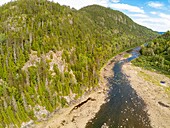
M0 127L42 120L47 114L36 114L41 107L51 113L68 106L98 85L109 58L156 36L98 5L75 10L46 0L18 0L1 6ZM157 57L169 68L170 49L164 53L165 45L151 45L163 46Z

